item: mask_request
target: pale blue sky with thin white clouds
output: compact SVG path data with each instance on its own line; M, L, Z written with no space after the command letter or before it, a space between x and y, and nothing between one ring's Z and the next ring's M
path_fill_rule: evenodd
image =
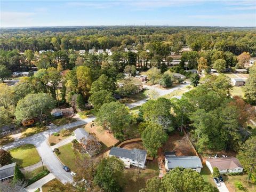
M256 26L256 1L0 1L1 27Z

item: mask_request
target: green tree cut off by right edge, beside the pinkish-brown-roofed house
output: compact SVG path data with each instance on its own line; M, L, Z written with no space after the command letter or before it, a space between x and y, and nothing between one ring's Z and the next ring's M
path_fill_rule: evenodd
M252 173L256 172L256 136L250 137L241 145L238 159L248 173L249 181Z

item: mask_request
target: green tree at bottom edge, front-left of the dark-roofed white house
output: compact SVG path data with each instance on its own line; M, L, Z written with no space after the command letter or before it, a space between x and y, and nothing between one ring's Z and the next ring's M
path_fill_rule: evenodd
M104 191L122 191L124 164L115 157L101 159L94 176L94 183Z

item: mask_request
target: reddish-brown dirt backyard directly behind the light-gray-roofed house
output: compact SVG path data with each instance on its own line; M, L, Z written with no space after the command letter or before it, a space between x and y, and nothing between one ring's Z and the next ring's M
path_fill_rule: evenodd
M168 141L163 146L163 151L175 151L177 156L196 155L189 139L185 135L180 136L178 132L169 136Z

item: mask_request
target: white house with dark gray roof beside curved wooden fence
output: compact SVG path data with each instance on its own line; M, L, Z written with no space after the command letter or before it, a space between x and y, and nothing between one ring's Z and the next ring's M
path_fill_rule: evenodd
M126 168L130 168L131 165L140 168L145 167L147 151L140 149L124 149L119 147L112 147L109 152L109 156L115 156L124 162Z

